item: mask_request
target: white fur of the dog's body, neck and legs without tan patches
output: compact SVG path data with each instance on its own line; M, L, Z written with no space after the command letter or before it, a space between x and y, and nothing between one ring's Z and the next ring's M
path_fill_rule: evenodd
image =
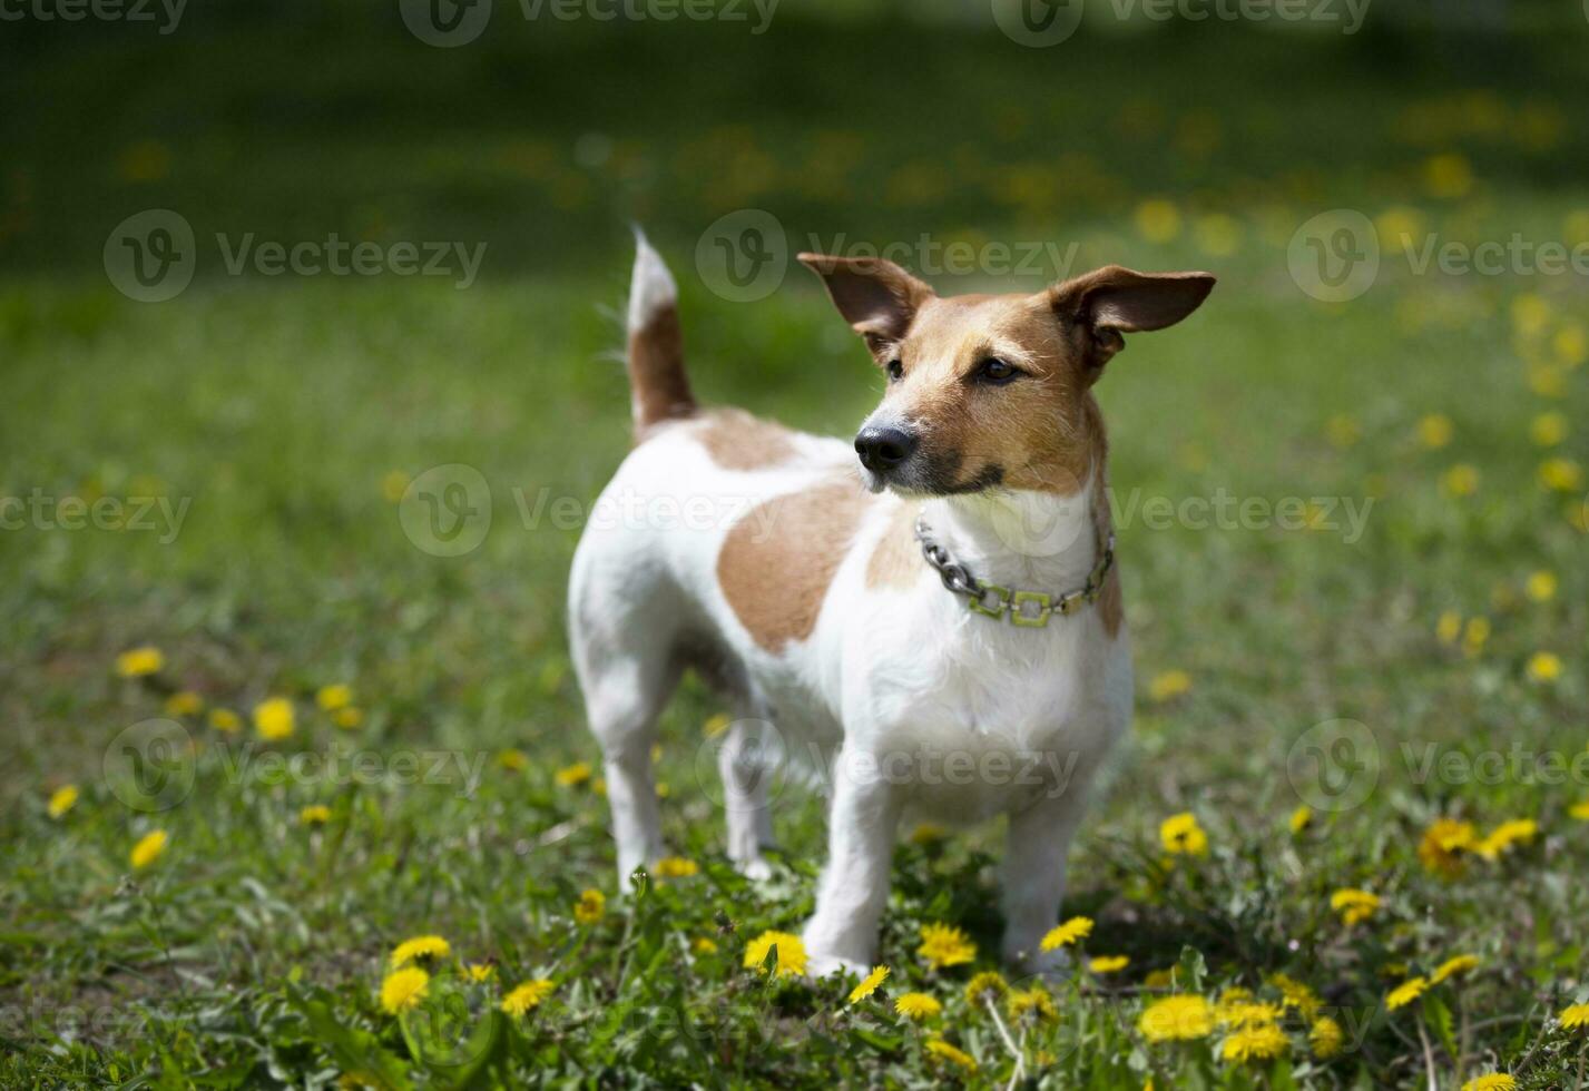
M653 289L651 306L671 300L669 291L656 303ZM1058 918L1069 842L1093 777L1130 721L1125 630L1111 637L1092 607L1046 629L1014 627L971 613L925 565L909 588L868 588L868 562L885 532L901 532L898 507L909 505L988 583L1079 588L1096 559L1090 494L1103 468L1069 500L877 497L815 629L774 653L745 630L718 583L725 538L771 497L839 475L860 491L855 453L841 440L796 435L796 457L731 470L702 445L704 427L698 419L655 427L597 502L597 511L631 518L593 521L574 557L574 664L605 754L620 889L634 867L663 856L650 756L656 721L683 667L706 661L739 721L721 769L728 854L747 873L766 872L760 850L771 842L767 777L736 761L755 724L771 721L787 750L826 765L829 853L804 929L812 972L871 964L904 813L945 823L1009 815L1004 954L1023 969L1050 967L1038 948ZM691 505L717 515L677 516ZM1019 526L1044 534L1033 540ZM777 594L777 573L769 581Z

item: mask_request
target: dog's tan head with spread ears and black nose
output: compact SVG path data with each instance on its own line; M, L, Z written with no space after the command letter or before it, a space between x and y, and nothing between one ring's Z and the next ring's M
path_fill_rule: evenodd
M888 378L855 437L866 483L915 495L1074 494L1103 438L1092 384L1122 333L1174 326L1214 287L1109 265L1036 294L945 299L888 260L799 260Z

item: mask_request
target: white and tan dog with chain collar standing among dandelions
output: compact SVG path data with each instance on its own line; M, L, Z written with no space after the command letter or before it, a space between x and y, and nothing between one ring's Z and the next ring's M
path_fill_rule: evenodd
M769 737L806 745L828 780L810 973L871 966L903 816L999 813L1004 959L1058 972L1041 940L1133 692L1092 387L1125 333L1179 322L1214 276L1111 265L1034 294L942 297L888 260L799 260L885 378L853 443L699 407L675 283L637 235L636 445L597 507L644 515L588 526L569 584L620 889L663 856L653 740L696 669L734 715L718 765L742 872L769 873L753 761Z

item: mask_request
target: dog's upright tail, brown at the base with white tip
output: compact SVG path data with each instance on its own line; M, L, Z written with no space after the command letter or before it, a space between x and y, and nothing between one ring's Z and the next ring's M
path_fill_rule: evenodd
M629 283L629 400L634 435L696 411L685 378L679 332L679 286L661 256L634 232L634 279Z

